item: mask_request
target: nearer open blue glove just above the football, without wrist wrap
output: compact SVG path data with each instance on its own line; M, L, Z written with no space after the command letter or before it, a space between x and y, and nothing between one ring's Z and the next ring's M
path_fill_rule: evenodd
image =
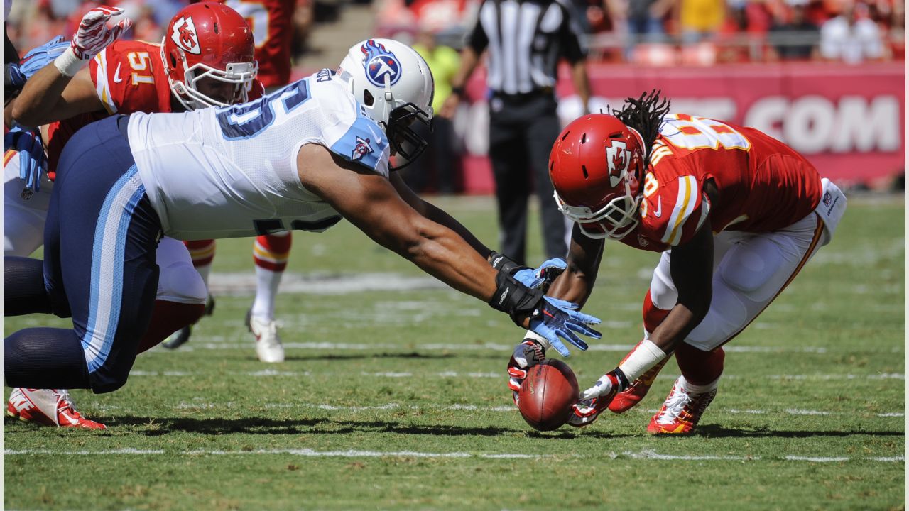
M551 296L544 296L537 310L534 311L534 315L530 318L530 329L536 334L544 336L549 341L549 344L562 356L571 356L571 353L559 337L562 337L578 349L585 350L587 349L587 343L576 336L574 332L599 339L603 335L587 325L598 325L600 319L579 312L577 308L577 304Z

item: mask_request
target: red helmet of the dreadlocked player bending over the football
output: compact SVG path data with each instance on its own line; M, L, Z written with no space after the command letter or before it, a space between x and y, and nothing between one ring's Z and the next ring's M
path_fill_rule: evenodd
M613 115L575 119L549 154L559 211L596 239L622 239L637 226L644 168L644 138Z

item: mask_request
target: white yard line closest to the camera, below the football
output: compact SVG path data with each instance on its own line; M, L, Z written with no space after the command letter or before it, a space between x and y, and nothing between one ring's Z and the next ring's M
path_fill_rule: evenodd
M5 449L4 456L305 456L305 457L350 457L350 458L374 458L374 457L420 457L420 458L485 458L485 459L539 459L555 457L554 455L527 454L527 453L431 453L421 451L368 451L368 450L346 450L346 451L316 451L315 449L256 449L250 451L224 451L196 449L192 451L165 451L160 449L106 449L106 450L78 450L78 451L55 451L51 449ZM660 454L650 449L644 449L640 452L623 451L621 453L597 453L591 455L574 455L574 457L600 457L609 456L611 458L631 458L640 460L655 461L776 461L783 459L785 461L801 461L809 463L828 463L844 461L876 461L881 463L901 463L905 461L905 456L727 456L727 455L667 455Z

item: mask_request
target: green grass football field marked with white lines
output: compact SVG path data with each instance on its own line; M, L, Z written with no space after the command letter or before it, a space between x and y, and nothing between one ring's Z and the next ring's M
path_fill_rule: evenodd
M437 202L495 245L489 199ZM903 196L851 200L834 242L728 345L683 438L645 431L674 362L623 416L530 430L504 377L521 332L345 223L295 234L287 361L266 366L243 326L250 241L219 241L215 316L190 343L139 356L115 393L73 393L109 429L6 418L5 508L904 509L904 216ZM582 386L640 340L656 257L607 245L586 307L604 338L568 360ZM46 325L68 327L4 331Z

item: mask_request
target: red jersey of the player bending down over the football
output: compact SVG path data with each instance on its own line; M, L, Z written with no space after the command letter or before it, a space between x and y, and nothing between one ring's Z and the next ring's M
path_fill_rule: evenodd
M719 190L711 204L704 184ZM622 242L662 252L709 217L723 230L768 232L794 224L821 200L821 177L789 146L753 128L666 115L644 175L641 222Z

